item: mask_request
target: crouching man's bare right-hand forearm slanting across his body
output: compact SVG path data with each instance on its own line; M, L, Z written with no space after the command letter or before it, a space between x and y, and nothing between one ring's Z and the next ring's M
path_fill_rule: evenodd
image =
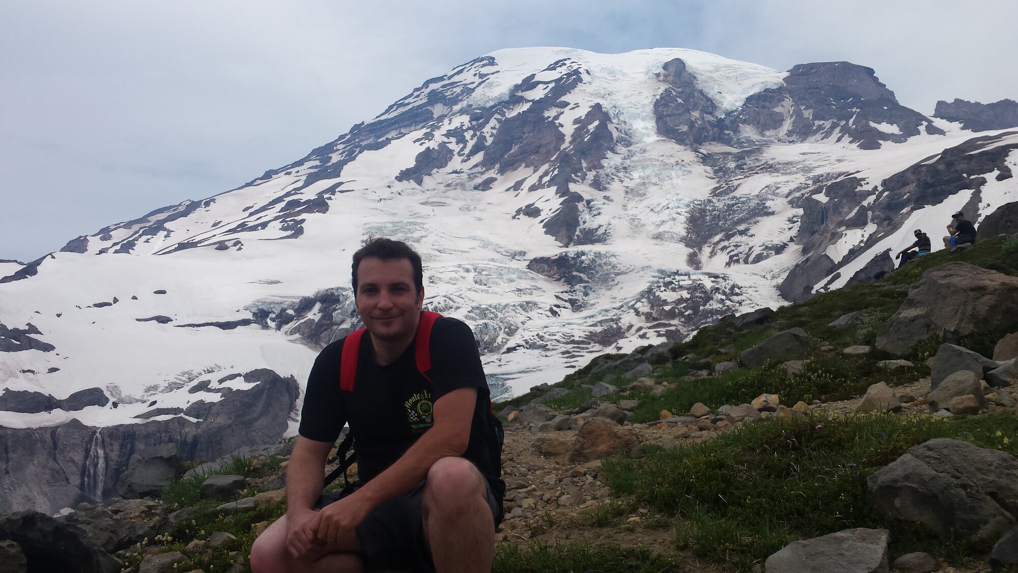
M317 513L310 528L318 540L336 542L343 532L359 525L379 504L416 485L435 462L462 456L470 440L476 400L475 387L457 388L438 399L434 425L393 465L350 496Z

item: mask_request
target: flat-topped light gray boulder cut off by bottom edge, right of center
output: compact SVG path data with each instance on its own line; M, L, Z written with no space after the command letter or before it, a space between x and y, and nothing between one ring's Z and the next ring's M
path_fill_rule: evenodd
M767 573L888 573L887 529L845 529L793 541L767 558Z

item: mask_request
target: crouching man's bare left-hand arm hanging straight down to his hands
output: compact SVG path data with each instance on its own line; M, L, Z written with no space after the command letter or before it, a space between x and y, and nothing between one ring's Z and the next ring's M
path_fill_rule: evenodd
M325 482L325 463L332 444L297 436L286 467L286 548L295 559L307 555L318 539L310 528L314 509Z

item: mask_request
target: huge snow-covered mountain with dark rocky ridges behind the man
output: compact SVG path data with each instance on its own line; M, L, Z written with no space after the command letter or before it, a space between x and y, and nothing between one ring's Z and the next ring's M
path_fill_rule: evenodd
M848 62L495 52L241 188L0 262L0 425L199 423L259 369L302 385L358 326L369 236L420 251L496 393L865 279L913 228L1018 200L1010 111L962 103L988 131Z

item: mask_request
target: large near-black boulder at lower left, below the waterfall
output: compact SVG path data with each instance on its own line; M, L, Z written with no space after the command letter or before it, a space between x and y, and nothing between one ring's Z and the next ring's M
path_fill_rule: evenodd
M30 571L120 573L120 563L84 530L39 512L0 519L0 539L20 545Z

